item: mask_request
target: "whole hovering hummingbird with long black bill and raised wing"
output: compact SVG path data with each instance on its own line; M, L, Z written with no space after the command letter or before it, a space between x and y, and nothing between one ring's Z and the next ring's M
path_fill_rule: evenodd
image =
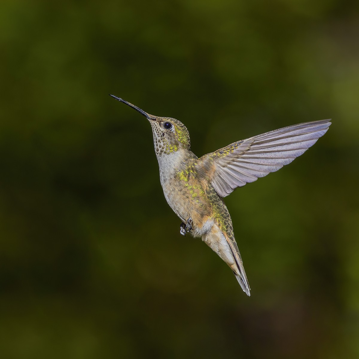
M150 122L160 182L165 199L182 221L180 233L201 237L232 269L249 296L251 289L223 198L302 155L327 132L330 120L283 127L198 158L191 151L190 134L182 122L150 115L122 98L110 96Z

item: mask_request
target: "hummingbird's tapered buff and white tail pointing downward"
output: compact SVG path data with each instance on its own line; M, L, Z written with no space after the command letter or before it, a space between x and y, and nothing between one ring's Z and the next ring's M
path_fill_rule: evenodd
M229 237L227 233L220 230L218 225L214 224L211 231L202 236L202 240L230 266L243 292L250 296L251 288L234 237Z

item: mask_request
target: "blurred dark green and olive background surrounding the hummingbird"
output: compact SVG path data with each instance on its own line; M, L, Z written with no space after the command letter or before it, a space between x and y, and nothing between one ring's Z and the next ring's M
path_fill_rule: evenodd
M1 358L358 358L359 5L0 5ZM149 123L197 155L332 118L226 198L252 296L165 202Z

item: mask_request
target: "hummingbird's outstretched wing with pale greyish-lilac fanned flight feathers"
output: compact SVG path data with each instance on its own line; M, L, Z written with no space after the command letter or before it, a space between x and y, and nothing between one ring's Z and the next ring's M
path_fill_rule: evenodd
M202 156L198 161L210 173L216 192L225 197L235 188L292 162L313 146L330 125L330 120L322 120L283 127L234 142Z

